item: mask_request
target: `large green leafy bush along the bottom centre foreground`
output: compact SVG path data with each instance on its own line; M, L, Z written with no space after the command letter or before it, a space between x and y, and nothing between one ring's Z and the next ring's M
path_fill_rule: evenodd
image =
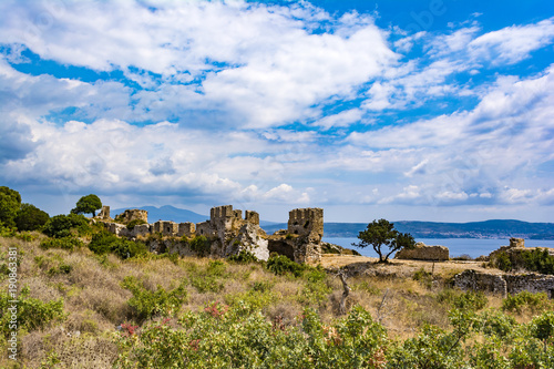
M187 311L173 328L143 327L136 339L121 335L121 368L383 368L386 330L355 307L334 325L306 309L298 325L268 321L259 310L220 303Z

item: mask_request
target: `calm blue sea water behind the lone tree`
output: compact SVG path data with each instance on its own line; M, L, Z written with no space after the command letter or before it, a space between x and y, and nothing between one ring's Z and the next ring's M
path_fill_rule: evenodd
M336 244L342 247L348 247L356 249L363 256L378 257L373 248L358 248L353 247L352 243L358 243L358 238L330 238L324 237L327 243ZM500 246L510 245L510 240L505 239L483 239L483 238L416 238L416 242L423 243L425 245L441 245L447 246L450 249L450 257L460 256L466 254L471 257L478 257L481 255L489 255L491 252L497 249ZM553 239L525 239L525 246L527 247L553 247ZM393 257L393 255L391 256Z

